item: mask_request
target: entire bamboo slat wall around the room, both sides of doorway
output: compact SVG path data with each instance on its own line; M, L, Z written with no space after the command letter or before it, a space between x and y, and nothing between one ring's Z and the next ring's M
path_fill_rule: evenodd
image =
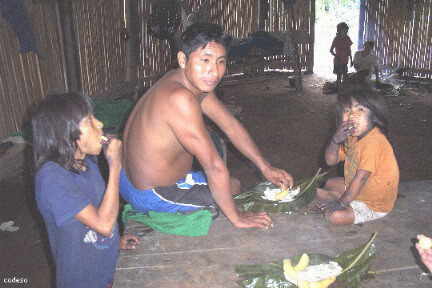
M69 1L69 0L62 0ZM157 0L155 0L157 1ZM206 4L209 21L237 38L251 32L301 30L313 39L314 0L297 0L284 13L282 0L183 0L192 11ZM362 0L366 4L363 39L375 39L384 65L409 68L410 75L432 78L432 0ZM57 0L24 1L38 43L38 54L18 52L15 33L0 17L0 139L19 131L35 102L67 87L65 47ZM258 3L269 3L262 15ZM73 23L82 92L103 94L125 81L126 41L122 0L73 0ZM137 78L152 84L170 68L167 41L148 32L150 0L138 0L140 20ZM260 15L261 13L261 15ZM265 19L265 20L263 20ZM313 40L301 43L302 70L312 71ZM268 57L267 68L290 69L284 55Z

